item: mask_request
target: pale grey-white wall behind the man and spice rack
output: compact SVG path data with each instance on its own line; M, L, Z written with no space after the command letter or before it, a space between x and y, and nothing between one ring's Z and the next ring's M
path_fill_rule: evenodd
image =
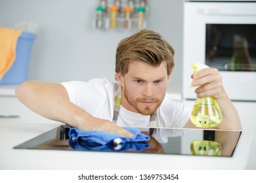
M24 21L39 27L30 59L31 80L114 80L117 42L135 31L93 29L96 5L98 0L0 1L1 27ZM168 91L181 92L183 1L148 0L148 6L147 28L161 33L176 50Z

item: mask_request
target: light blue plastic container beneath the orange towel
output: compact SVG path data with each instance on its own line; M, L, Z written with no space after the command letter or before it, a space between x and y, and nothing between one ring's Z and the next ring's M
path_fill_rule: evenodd
M20 84L28 80L28 69L30 54L32 51L35 34L22 32L16 44L16 58L12 67L3 75L0 85L3 84Z

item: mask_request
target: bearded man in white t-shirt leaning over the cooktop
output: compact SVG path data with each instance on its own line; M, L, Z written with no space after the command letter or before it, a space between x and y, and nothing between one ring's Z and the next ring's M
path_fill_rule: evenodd
M174 50L161 35L142 30L117 45L116 80L88 82L28 81L16 88L18 99L51 120L83 130L103 130L132 137L120 126L194 127L190 110L168 99ZM190 67L190 66L189 66ZM240 129L236 109L224 92L217 69L193 76L198 97L213 96L223 112L221 129Z

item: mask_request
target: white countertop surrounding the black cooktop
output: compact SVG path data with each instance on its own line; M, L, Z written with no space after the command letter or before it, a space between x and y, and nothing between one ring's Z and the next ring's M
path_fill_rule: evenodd
M232 158L13 149L58 125L0 121L0 169L246 169L252 139L243 132Z

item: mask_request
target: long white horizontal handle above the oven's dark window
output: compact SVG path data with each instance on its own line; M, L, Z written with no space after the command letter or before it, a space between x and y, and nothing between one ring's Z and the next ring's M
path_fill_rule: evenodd
M198 14L204 15L236 15L236 16L256 16L256 11L239 9L213 9L213 8L198 8Z

